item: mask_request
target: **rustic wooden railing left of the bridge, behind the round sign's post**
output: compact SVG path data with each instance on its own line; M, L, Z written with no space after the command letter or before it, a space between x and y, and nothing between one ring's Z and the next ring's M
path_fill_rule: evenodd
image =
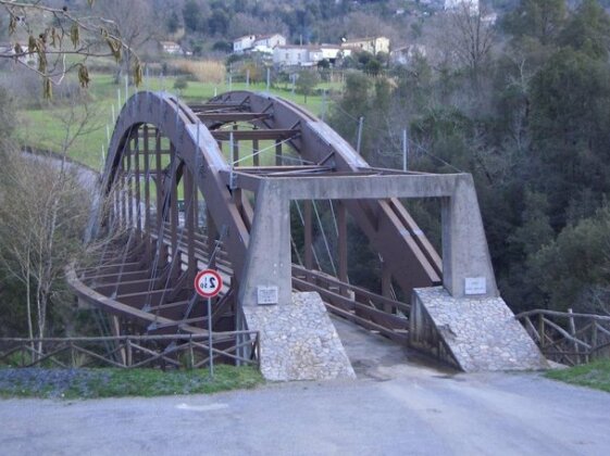
M214 332L214 363L259 365L258 331ZM0 339L0 366L161 367L210 365L208 334L120 335L100 338Z

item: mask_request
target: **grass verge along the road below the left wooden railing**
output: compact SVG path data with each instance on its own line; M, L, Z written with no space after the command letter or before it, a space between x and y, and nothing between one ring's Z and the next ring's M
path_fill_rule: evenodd
M0 368L0 397L99 398L210 394L256 388L262 383L253 367L219 365L207 369L41 369Z

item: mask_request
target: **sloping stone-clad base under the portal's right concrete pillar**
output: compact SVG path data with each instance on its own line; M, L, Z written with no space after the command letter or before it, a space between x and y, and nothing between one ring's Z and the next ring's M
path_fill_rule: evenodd
M548 368L501 297L455 299L443 287L413 294L412 346L466 372Z

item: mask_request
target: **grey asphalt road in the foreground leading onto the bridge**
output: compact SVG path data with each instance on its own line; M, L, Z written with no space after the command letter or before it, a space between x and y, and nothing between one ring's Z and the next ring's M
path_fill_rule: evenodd
M2 455L608 455L610 394L456 375L339 329L359 379L199 396L0 401Z

